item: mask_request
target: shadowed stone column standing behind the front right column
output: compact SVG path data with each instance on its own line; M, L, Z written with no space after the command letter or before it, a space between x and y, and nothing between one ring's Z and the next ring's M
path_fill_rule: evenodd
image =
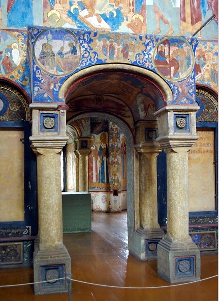
M157 157L162 151L155 141L157 122L139 122L136 126L135 145L139 153L139 227L142 260L157 259L157 245L164 232L158 223Z

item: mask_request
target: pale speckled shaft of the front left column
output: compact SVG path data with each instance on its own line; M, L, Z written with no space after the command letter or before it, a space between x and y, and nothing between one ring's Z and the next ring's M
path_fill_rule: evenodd
M40 250L61 249L63 247L60 167L60 149L38 149Z

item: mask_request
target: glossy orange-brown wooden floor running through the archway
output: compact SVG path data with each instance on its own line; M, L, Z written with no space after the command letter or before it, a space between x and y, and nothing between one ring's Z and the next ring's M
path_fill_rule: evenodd
M92 213L92 232L64 235L72 260L71 301L217 301L217 277L173 286L157 274L157 261L128 251L127 212ZM217 255L201 256L201 279L217 275ZM32 283L31 267L0 270L0 286ZM115 288L88 283L119 287ZM149 287L138 289L134 287ZM156 287L156 288L150 288ZM69 301L68 293L34 295L33 285L0 287L0 301Z

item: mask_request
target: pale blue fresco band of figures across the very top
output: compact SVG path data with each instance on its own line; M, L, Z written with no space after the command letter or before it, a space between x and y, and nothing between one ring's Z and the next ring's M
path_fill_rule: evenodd
M217 0L0 0L0 28L27 25L217 40Z

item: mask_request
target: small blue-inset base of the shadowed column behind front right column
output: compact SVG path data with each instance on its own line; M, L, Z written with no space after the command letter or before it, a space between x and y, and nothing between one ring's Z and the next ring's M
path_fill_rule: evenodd
M157 246L164 236L164 231L161 228L138 228L136 233L141 246L139 258L145 261L157 260Z

